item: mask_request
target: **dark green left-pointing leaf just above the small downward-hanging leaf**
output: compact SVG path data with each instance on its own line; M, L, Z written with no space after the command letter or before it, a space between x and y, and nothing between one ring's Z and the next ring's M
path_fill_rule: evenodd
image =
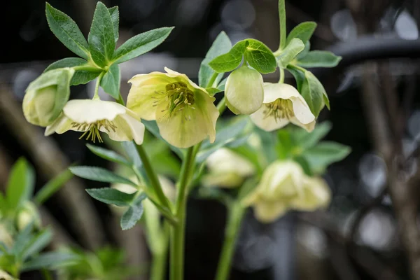
M119 207L129 206L137 193L123 193L115 188L90 188L86 192L95 200Z

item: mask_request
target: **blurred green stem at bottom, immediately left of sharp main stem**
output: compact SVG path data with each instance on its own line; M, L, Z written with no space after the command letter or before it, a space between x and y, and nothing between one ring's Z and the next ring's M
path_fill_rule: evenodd
M162 250L152 252L152 267L151 267L151 280L165 280L167 268L167 255L169 247L169 230L170 225L164 223L162 232Z

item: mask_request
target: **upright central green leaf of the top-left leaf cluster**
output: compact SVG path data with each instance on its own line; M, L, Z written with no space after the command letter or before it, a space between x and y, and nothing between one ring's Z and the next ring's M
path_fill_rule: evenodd
M98 2L94 10L92 26L90 27L89 42L90 55L94 63L100 67L109 65L112 61L116 41L113 34L113 22L108 8Z

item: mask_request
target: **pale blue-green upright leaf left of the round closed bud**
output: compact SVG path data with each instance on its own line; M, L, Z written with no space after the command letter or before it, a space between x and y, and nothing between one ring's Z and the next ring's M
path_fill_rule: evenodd
M211 69L211 67L209 66L209 62L211 62L212 59L218 57L219 55L223 55L224 53L229 52L231 48L232 42L230 42L230 38L225 33L225 31L221 31L221 33L218 34L213 44L209 48L206 57L203 59L200 65L200 70L198 71L198 84L200 85L200 87L209 86L211 76L213 76L213 74L215 73L214 70ZM217 76L215 80L216 85L222 77L223 73L220 73Z

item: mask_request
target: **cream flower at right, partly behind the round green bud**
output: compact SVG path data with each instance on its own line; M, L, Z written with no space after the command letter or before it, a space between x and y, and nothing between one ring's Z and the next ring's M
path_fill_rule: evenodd
M291 85L264 83L264 104L251 115L255 125L265 131L278 130L293 123L311 132L315 116L302 95Z

